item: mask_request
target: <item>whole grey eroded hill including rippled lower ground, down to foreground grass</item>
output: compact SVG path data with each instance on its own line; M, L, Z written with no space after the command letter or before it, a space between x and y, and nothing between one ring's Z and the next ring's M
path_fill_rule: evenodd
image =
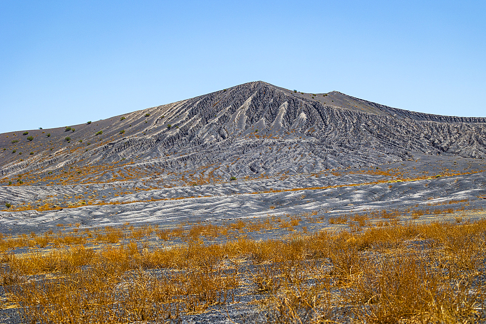
M252 82L111 119L3 133L0 224L481 205L485 122Z

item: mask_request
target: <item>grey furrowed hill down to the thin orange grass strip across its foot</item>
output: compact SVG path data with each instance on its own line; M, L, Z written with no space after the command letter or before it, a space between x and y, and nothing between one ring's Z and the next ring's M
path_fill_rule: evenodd
M17 210L22 202L40 210L82 196L97 204L152 199L140 194L164 188L179 191L156 197L204 196L216 188L196 188L202 185L239 183L216 190L231 194L435 175L431 165L439 159L449 161L446 172L457 169L458 158L469 161L463 169L480 170L485 157L486 118L423 114L258 81L110 119L0 134L0 194ZM408 169L392 174L390 163ZM330 173L338 171L341 177ZM303 180L312 175L320 182Z

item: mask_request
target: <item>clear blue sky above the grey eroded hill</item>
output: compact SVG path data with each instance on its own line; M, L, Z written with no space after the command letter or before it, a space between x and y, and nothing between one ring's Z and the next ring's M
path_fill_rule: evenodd
M486 1L0 1L0 133L257 80L486 117Z

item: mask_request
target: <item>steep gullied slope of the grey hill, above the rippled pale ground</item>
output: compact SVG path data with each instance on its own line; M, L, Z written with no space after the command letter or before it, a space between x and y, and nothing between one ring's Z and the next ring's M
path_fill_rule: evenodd
M83 179L91 170L93 181L115 181L129 178L119 171L134 162L151 177L181 171L207 177L212 171L214 177L240 178L379 165L412 158L412 152L484 158L485 122L252 82L69 126L74 132L30 130L32 141L23 132L1 134L0 176L4 183L26 172L47 178L47 172L73 167ZM106 172L97 174L95 166Z

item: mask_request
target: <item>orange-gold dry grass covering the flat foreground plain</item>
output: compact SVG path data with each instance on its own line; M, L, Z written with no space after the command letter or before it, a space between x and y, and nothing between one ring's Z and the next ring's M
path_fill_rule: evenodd
M2 235L4 305L33 324L179 322L238 302L243 290L260 296L258 321L269 323L485 320L486 221L393 225L390 212L380 216L392 223L258 241L245 236L300 218ZM369 226L368 216L350 222ZM8 252L33 244L63 248Z

